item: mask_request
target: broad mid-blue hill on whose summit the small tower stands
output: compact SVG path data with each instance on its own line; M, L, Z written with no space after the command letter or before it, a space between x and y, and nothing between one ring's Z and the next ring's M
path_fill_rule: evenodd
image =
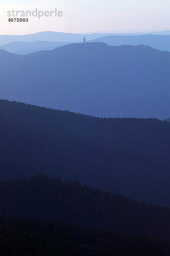
M170 52L69 44L14 55L0 50L0 96L95 116L170 116Z

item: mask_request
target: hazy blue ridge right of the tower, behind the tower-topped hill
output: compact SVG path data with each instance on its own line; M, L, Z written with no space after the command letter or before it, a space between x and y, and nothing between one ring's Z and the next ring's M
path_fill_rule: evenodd
M96 38L90 42L103 42L112 46L143 44L161 51L170 51L170 35L114 35Z

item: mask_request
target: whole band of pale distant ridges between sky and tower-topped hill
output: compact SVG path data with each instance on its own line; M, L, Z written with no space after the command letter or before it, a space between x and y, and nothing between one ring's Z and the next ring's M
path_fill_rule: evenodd
M155 49L170 51L170 35L168 35L168 31L159 32L162 35L157 35L156 33L158 32L152 33L152 35L142 33L94 33L86 34L85 36L89 42L103 42L112 46L143 44ZM0 35L0 49L24 55L42 50L52 50L70 43L79 43L83 41L83 36L83 34L51 31L31 35Z

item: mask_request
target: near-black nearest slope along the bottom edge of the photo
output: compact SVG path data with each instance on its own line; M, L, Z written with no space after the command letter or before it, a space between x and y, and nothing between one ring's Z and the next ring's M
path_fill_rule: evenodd
M0 256L169 256L170 240L86 230L38 220L0 219Z

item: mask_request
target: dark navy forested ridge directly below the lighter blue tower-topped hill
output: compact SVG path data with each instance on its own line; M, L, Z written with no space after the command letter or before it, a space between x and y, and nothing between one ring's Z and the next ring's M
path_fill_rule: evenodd
M39 172L170 206L170 123L0 100L0 179Z

